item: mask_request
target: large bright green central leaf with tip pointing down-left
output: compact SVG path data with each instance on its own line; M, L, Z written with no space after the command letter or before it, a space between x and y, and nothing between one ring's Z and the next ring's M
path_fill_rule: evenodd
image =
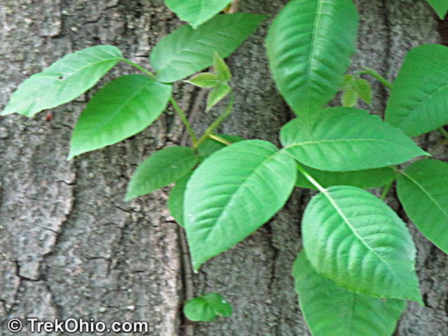
M288 200L296 174L289 155L261 140L237 142L204 160L184 201L194 269L269 221Z

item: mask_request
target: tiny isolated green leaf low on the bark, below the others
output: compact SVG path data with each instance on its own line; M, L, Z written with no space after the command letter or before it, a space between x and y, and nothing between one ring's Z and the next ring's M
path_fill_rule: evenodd
M191 321L209 322L218 316L232 315L232 306L219 293L210 293L188 300L183 314Z

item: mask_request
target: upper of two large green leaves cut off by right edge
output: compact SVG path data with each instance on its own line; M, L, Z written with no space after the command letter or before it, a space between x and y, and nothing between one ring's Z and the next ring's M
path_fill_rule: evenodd
M448 48L421 45L409 51L386 108L386 121L409 137L448 123Z

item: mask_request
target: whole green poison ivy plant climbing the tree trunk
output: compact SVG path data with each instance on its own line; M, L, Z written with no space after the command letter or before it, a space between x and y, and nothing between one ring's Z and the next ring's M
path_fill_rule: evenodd
M318 190L302 218L303 251L293 267L295 288L313 336L390 336L405 300L422 303L415 248L405 223L384 200L397 180L400 202L428 239L448 252L448 165L413 137L439 129L448 137L448 49L410 51L394 83L367 66L346 75L355 50L358 14L351 0L292 0L269 28L269 66L279 92L297 114L283 126L281 148L258 139L216 134L233 109L232 53L265 18L220 14L231 1L166 0L190 22L155 45L151 68L123 58L111 45L66 55L25 80L1 115L32 117L90 90L118 62L140 74L111 80L87 103L73 130L69 158L132 137L170 103L190 146L155 151L130 179L126 200L175 186L167 205L186 231L193 267L251 235L288 201L295 186ZM446 4L429 1L439 15ZM235 3L234 3L235 4ZM441 15L441 16L442 16ZM203 71L209 66L211 70ZM371 103L369 75L391 96L385 119L353 109ZM176 102L172 83L209 91L206 111L221 114L198 136ZM265 83L262 83L265 85ZM342 90L342 107L325 108ZM237 92L236 92L237 93ZM221 104L218 105L218 102ZM381 199L367 188L384 186ZM188 300L192 321L230 316L218 293Z

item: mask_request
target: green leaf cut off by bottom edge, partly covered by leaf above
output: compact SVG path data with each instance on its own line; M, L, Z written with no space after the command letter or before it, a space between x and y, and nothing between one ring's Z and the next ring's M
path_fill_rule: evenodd
M406 302L346 290L319 275L304 251L293 266L300 308L313 336L391 336Z

